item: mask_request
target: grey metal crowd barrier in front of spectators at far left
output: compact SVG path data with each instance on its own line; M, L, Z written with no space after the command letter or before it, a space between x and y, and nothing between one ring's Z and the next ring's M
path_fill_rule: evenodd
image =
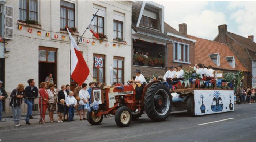
M1 105L2 105L2 112L1 112L2 119L0 120L0 122L26 120L26 116L28 114L28 105L25 103L24 99L27 99L31 102L32 98L22 98L22 104L20 105L20 107L10 106L11 99L12 98L8 97L5 100L0 100ZM39 99L41 99L41 98L33 97L33 99L34 99L34 103L32 106L32 117L34 119L41 120L40 109L39 109L39 106L40 106ZM12 104L14 104L15 101L18 101L19 103L21 102L21 100L13 99ZM18 102L16 102L16 103L18 103ZM17 115L18 117L20 116L19 119L13 118L12 110L14 110L14 109L20 109L20 115L19 114ZM27 116L27 118L28 117L29 116Z

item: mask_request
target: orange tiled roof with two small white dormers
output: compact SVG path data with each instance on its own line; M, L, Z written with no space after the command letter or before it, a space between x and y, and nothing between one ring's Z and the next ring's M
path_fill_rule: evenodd
M195 63L203 63L205 66L211 65L213 68L219 68L224 70L248 70L244 67L244 65L240 62L237 56L234 54L231 49L223 43L197 38L195 36L188 35L188 38L195 39ZM217 66L210 58L210 54L217 54L220 56L220 66ZM227 62L226 57L234 56L236 67L233 68Z

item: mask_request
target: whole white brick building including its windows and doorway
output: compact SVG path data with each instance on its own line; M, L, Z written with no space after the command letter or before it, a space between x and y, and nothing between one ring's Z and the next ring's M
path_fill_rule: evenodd
M132 3L132 1L6 1L3 7L6 5L8 10L13 7L14 25L13 36L4 36L11 38L6 40L8 44L5 43L5 89L11 91L19 83L27 85L29 78L35 79L36 86L39 86L48 73L52 73L57 88L62 84L75 86L75 82L70 78L70 40L67 32L61 28L66 25L65 18L68 17L69 26L75 26L78 31L73 37L79 39L98 8L100 10L95 17L98 20L98 24L94 24L95 29L107 35L107 39L100 43L87 30L79 43L79 48L95 79L110 84L111 64L119 65L114 69L118 72L116 75L120 82L130 79ZM37 20L39 24L26 24L23 21L27 17ZM18 25L22 26L21 30L18 29ZM114 26L116 28L113 28ZM32 29L32 33L28 32L29 28ZM38 35L38 31L41 35ZM50 36L47 37L46 33L50 33ZM127 44L114 40L114 33L119 38L123 36ZM58 38L55 38L55 35L58 35ZM87 43L87 40L90 40L90 43ZM92 44L93 41L95 45ZM116 44L116 47L113 44ZM94 56L105 58L103 68L93 69ZM93 79L89 75L86 83L91 81Z

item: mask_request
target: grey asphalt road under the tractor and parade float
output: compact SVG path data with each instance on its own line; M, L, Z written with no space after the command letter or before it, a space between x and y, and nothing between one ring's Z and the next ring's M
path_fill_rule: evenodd
M57 117L55 117L57 118ZM231 119L229 119L231 118ZM198 125L208 122L226 121ZM47 119L46 119L47 120ZM104 118L101 125L87 121L37 124L15 127L13 122L0 123L1 141L61 142L253 142L256 141L256 104L235 105L235 111L190 117L186 112L171 113L164 122L153 122L146 114L129 127L119 128L114 117ZM4 124L5 123L5 124ZM9 126L6 126L7 123ZM3 124L3 125L2 125ZM24 124L24 125L23 125Z

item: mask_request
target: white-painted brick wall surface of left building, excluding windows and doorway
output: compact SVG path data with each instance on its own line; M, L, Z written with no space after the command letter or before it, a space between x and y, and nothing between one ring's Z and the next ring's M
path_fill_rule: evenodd
M79 36L82 36L86 26L90 23L93 15L93 4L101 5L106 8L105 17L105 35L108 36L107 41L102 44L99 40L93 39L90 31L84 34L85 40L90 43L79 43L79 48L83 52L84 59L89 66L91 74L93 74L93 53L106 55L105 76L106 83L110 84L109 66L113 65L113 56L124 57L124 80L131 78L131 55L127 54L131 51L131 8L132 2L123 1L71 1L75 3L75 26L78 28ZM14 39L9 40L6 48L10 48L8 58L5 59L5 89L12 91L19 83L27 85L27 79L35 79L36 86L38 82L38 48L39 46L57 48L57 88L62 84L70 83L70 39L67 33L60 31L60 1L38 1L38 21L42 25L41 29L34 27L22 27L18 30L19 17L19 1L6 1L6 4L14 6ZM113 7L113 5L115 5ZM113 13L118 11L124 13L124 38L128 44L119 44L113 42ZM81 14L82 13L82 14ZM88 14L84 14L88 13ZM91 14L89 14L91 13ZM32 33L28 33L31 28ZM41 36L37 35L37 31L41 31ZM50 33L50 37L46 37L46 32ZM59 36L58 39L54 35ZM65 35L65 39L61 39L61 35ZM74 39L78 36L73 35ZM91 42L95 41L95 45ZM109 46L105 46L108 43ZM116 44L116 47L113 47ZM118 51L118 52L117 52ZM89 75L86 83L93 79Z

